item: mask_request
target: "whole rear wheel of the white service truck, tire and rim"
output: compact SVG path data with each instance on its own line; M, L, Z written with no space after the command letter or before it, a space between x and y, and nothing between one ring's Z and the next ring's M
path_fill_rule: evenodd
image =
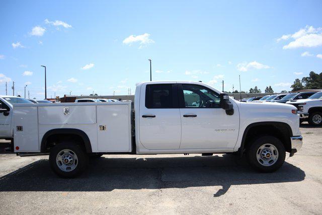
M49 155L51 169L62 178L74 178L88 166L84 150L72 142L62 142L52 148Z

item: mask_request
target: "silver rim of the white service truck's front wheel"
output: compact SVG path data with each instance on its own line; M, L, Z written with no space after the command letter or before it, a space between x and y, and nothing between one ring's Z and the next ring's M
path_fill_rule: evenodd
M278 160L278 150L272 144L264 144L257 150L257 161L263 166L272 166Z

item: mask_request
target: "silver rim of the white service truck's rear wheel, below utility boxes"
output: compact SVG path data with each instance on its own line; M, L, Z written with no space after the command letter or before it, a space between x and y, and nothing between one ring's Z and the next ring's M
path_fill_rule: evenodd
M61 150L56 156L56 164L61 171L73 171L78 165L77 155L71 150Z

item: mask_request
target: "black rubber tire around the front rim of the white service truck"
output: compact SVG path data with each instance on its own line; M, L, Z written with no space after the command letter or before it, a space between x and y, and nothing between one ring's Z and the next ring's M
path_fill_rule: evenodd
M257 155L260 152L260 147L265 144L273 145L278 151L278 158L271 166L264 166L257 159ZM266 146L265 146L266 147ZM281 140L274 136L262 136L255 138L251 143L251 146L247 149L247 158L249 164L259 172L274 172L279 169L285 161L285 147Z

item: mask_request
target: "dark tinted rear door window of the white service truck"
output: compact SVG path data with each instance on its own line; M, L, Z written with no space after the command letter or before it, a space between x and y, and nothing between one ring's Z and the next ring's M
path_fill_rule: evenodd
M174 90L172 84L146 85L146 108L174 108Z

